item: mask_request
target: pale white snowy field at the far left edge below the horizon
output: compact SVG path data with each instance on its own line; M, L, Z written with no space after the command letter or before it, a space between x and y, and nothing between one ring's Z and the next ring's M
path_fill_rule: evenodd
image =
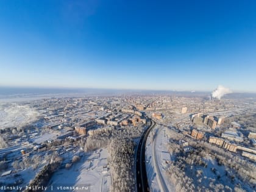
M26 126L36 121L39 115L40 113L28 105L0 104L0 129Z

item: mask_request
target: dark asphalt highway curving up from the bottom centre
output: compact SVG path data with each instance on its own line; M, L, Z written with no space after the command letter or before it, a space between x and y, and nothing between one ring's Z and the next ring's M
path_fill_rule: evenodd
M137 191L149 191L148 178L145 163L145 146L146 140L155 123L150 119L151 125L144 131L141 136L140 143L138 144L137 158L136 158L136 178L137 178Z

